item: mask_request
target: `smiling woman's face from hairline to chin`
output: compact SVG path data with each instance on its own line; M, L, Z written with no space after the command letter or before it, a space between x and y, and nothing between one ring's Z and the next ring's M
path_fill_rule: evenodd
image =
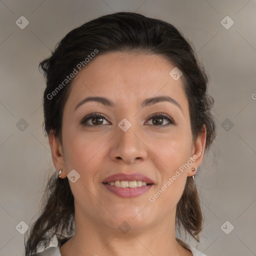
M61 161L67 174L80 175L68 181L81 219L111 228L126 221L136 229L174 216L190 169L201 161L201 144L193 143L188 101L181 78L169 75L173 68L156 54L115 52L98 55L74 77L63 111ZM156 96L171 101L141 105ZM112 105L87 101L76 108L86 97ZM97 116L84 118L92 113ZM151 184L102 183L116 173L142 174Z

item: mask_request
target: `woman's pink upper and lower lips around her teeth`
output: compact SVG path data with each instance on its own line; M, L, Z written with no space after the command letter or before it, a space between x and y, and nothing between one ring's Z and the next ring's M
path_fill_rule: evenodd
M108 185L108 182L115 180L141 180L145 181L147 185L145 186L137 186L137 187L117 187ZM125 173L116 173L106 177L102 184L105 188L107 188L110 192L120 196L120 197L135 197L147 192L154 184L153 180L148 178L147 176L139 173L134 174L125 174Z

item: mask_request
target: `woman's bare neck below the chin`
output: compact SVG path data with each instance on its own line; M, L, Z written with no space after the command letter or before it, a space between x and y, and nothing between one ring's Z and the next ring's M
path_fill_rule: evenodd
M192 255L175 239L174 218L121 232L118 228L85 219L79 211L75 212L74 235L60 247L60 253L62 256Z

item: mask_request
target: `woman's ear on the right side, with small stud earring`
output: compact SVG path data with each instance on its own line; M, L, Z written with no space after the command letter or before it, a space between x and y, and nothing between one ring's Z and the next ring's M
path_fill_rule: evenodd
M187 169L187 176L193 176L202 162L206 142L206 132L206 127L203 125L202 133L198 135L194 145L192 146L192 154L190 157L192 164ZM195 170L192 171L192 168L195 168Z

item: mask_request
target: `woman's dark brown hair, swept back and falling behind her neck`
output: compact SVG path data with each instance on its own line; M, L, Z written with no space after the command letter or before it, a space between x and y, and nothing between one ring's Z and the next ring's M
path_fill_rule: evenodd
M192 44L191 44L192 45ZM40 62L46 78L43 95L44 130L52 130L62 144L61 125L63 107L71 82L61 87L54 97L49 95L62 83L77 64L95 49L97 55L126 51L158 54L178 67L189 104L193 141L206 128L205 151L215 137L215 122L210 113L213 98L207 94L208 79L190 43L173 25L139 13L117 12L93 19L68 32L56 45L51 56ZM95 56L96 57L96 56ZM86 68L86 66L85 66ZM64 238L74 231L74 198L67 177L48 180L39 218L32 225L25 242L25 255L35 255L37 247L48 245L52 235ZM187 177L183 194L177 203L176 225L199 241L203 216L200 200L192 177Z

